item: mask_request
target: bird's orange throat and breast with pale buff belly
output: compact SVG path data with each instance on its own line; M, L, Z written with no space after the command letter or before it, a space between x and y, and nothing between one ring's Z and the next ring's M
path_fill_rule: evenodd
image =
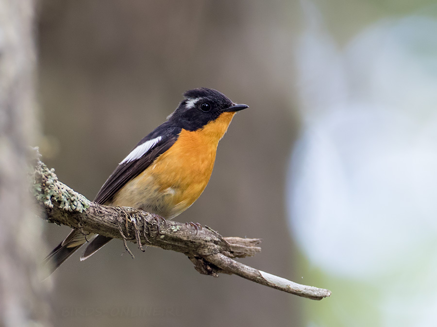
M173 218L196 201L211 177L218 141L235 113L223 113L202 129L182 129L177 141L128 182L112 205L143 208Z

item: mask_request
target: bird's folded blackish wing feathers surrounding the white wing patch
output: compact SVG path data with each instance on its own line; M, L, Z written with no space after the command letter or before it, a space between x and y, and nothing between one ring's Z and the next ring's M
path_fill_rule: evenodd
M133 149L133 151L141 144L161 137L161 139L149 149L141 157L132 161L121 162L116 170L109 176L105 184L97 193L94 202L104 204L111 201L114 195L131 179L143 172L151 163L161 154L166 152L176 142L181 128L172 126L169 121L158 126L148 136L143 138ZM132 153L132 152L131 152Z

